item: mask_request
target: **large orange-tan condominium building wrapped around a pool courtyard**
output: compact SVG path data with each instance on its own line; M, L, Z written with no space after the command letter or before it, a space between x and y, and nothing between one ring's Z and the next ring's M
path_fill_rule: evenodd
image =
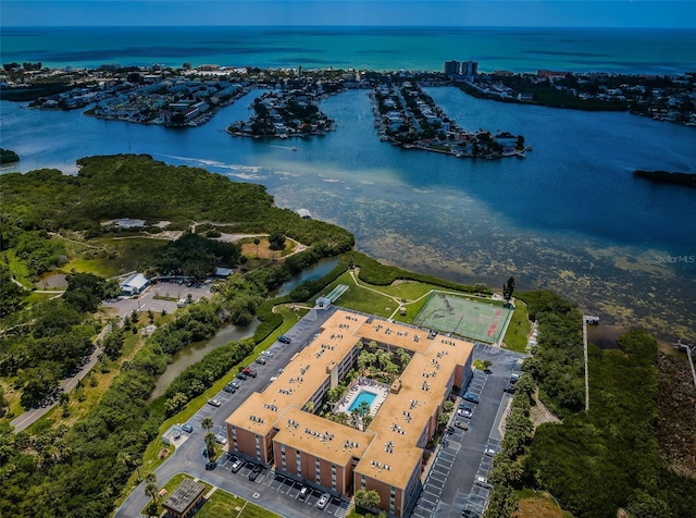
M356 367L360 345L371 342L405 349L411 359L386 398L373 404L366 429L314 415ZM374 490L382 509L407 516L421 488L423 448L452 386L468 383L472 350L459 338L337 310L275 381L227 418L229 451L335 494ZM377 386L360 383L346 402Z

